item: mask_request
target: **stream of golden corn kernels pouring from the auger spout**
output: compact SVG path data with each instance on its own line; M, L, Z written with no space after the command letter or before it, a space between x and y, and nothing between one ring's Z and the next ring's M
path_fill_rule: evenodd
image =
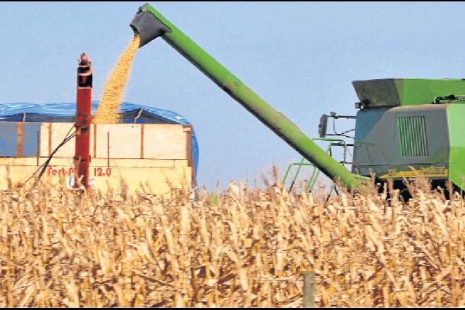
M123 102L125 86L129 79L132 60L139 49L140 37L135 36L123 51L113 73L106 81L99 107L92 120L94 124L116 124L120 122L119 107Z

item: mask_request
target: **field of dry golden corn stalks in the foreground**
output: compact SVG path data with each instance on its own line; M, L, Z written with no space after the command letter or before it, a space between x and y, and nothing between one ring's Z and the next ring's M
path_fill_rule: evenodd
M1 192L0 306L465 306L458 193L121 188Z

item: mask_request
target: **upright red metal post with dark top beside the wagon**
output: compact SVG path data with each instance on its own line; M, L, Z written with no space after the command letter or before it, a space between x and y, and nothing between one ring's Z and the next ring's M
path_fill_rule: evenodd
M77 65L75 187L79 187L79 179L85 188L89 187L91 97L92 66L87 55L82 53Z

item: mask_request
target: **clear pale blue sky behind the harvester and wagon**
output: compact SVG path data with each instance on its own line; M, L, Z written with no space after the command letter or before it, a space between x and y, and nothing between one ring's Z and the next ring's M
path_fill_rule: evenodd
M142 4L1 2L0 104L74 102L83 51L99 100ZM309 137L321 114L356 113L352 80L465 77L464 3L151 4ZM192 122L207 187L300 157L161 39L137 52L125 101Z

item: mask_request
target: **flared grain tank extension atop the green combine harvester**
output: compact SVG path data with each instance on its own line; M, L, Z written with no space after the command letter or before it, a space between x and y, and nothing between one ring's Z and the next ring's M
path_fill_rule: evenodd
M366 107L414 106L433 104L436 97L465 95L461 79L378 79L352 82L359 100Z

